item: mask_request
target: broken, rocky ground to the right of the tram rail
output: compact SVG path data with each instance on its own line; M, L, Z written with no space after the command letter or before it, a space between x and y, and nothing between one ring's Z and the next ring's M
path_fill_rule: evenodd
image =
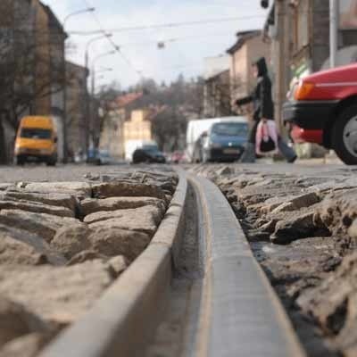
M357 182L349 170L324 170L198 168L227 196L307 355L350 357L357 355Z

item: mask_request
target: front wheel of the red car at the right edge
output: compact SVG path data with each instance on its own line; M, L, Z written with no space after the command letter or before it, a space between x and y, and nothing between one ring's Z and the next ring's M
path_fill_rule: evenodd
M332 147L347 165L357 165L357 104L342 112L332 131Z

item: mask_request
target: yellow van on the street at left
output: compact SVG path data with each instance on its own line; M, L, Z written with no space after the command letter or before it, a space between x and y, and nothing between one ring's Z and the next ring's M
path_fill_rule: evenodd
M57 162L57 135L51 117L28 116L21 119L15 142L15 162Z

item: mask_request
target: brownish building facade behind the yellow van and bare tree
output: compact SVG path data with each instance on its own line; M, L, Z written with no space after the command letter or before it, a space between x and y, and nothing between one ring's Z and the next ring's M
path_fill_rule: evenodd
M59 62L64 58L66 35L51 9L38 0L2 0L0 10L0 112L1 125L6 128L5 135L0 130L3 146L5 140L13 145L22 116L53 115L63 124L65 72ZM61 142L62 130L58 131ZM12 151L7 150L8 159ZM59 143L60 156L62 152Z

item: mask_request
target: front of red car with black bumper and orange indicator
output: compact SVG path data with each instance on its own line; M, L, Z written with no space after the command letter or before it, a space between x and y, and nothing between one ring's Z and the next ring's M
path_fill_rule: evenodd
M357 164L357 64L311 74L291 95L283 118L292 124L294 141L323 145Z

